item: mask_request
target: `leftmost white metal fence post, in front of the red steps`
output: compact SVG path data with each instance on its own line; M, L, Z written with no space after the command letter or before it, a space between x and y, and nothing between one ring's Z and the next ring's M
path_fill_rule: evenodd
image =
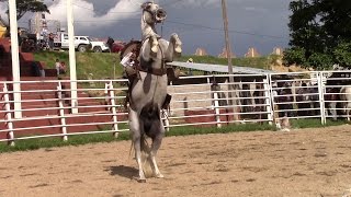
M12 121L12 115L11 115L11 105L10 105L10 96L8 91L8 84L3 83L3 100L4 100L4 108L5 108L5 118L7 118L7 125L8 125L8 144L13 147L14 146L14 135L13 135L13 121Z

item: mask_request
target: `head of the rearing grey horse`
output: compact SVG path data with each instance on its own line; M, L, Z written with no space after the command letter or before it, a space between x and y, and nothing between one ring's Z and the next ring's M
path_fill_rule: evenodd
M148 24L161 23L166 20L167 12L154 2L141 4L144 21Z

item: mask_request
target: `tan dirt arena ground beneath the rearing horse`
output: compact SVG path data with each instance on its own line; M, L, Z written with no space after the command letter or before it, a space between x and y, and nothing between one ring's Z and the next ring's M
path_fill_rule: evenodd
M137 183L129 141L0 154L0 196L351 196L351 126L166 138Z

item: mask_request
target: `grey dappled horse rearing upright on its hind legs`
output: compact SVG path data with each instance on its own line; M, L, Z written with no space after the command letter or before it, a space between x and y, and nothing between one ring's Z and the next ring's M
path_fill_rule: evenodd
M135 159L139 169L139 181L145 182L147 176L144 164L150 164L152 176L163 177L157 163L156 154L165 136L163 123L160 109L167 95L167 69L166 62L180 56L181 40L177 34L172 34L170 40L162 39L155 25L166 19L166 11L158 4L145 2L141 4L141 48L139 53L140 66L137 68L139 77L132 82L129 99L129 130L134 144ZM146 136L152 143L148 147ZM147 154L143 161L143 153ZM143 154L143 155L141 155Z

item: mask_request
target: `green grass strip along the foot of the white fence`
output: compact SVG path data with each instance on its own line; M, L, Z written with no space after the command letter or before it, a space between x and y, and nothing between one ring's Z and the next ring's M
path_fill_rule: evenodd
M291 121L293 128L322 128L329 126L343 125L346 121L328 120L326 125L320 125L319 119L294 119ZM123 126L127 127L127 126ZM259 131L259 130L276 130L275 126L269 124L245 124L245 125L229 125L222 128L207 127L174 127L166 134L170 136L190 136L190 135L207 135L207 134L229 134L229 132L242 132L242 131ZM2 152L14 152L14 151L29 151L36 149L49 149L53 147L65 147L65 146L81 146L88 143L98 142L112 142L121 140L129 140L128 132L121 132L118 138L114 138L112 134L95 134L95 135L80 135L69 136L68 141L63 141L60 138L41 138L41 139L29 139L15 141L14 147L10 147L7 143L0 143L0 153Z

